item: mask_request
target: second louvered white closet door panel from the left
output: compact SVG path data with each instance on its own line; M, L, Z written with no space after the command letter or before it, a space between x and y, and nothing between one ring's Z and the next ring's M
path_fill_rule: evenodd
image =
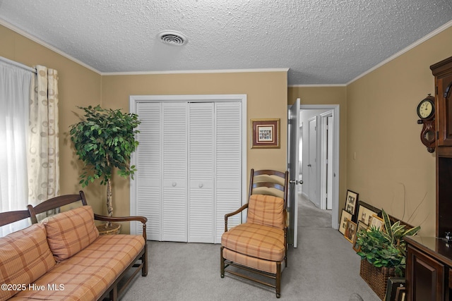
M162 240L187 238L187 104L163 103Z

